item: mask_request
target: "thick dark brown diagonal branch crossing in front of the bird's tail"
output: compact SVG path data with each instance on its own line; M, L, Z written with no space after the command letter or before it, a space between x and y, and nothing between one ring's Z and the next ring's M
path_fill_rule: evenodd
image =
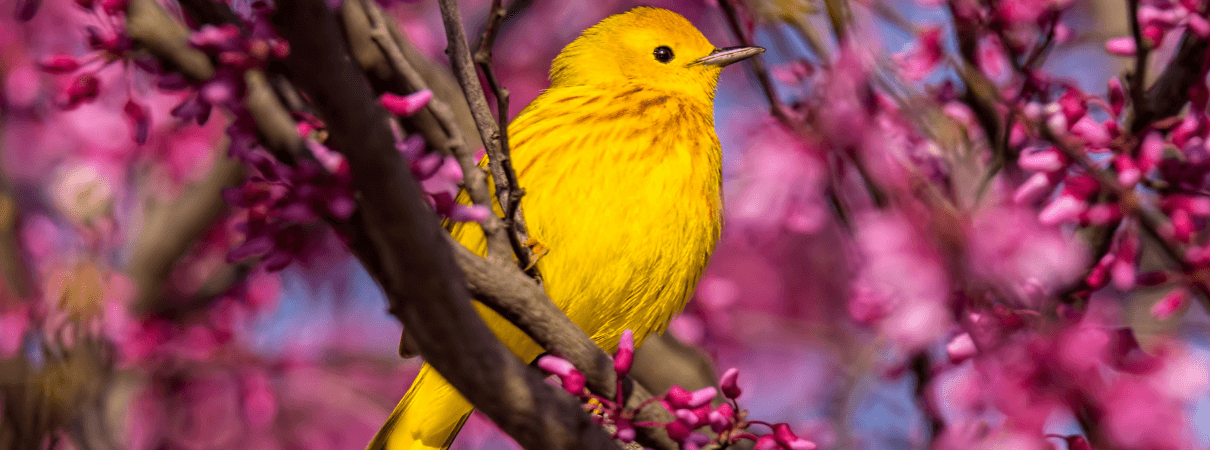
M292 48L284 65L348 161L369 238L381 249L391 311L426 360L526 449L616 448L576 402L500 344L467 301L446 235L394 150L390 116L347 57L327 5L277 6L273 23Z

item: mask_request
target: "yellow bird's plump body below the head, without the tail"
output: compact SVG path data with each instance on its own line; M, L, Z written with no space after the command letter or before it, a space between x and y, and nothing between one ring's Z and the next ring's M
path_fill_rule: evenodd
M548 249L537 266L549 298L607 351L624 329L639 340L662 331L719 238L709 99L634 85L549 90L513 121L509 140L530 235ZM454 232L484 252L478 226ZM480 311L519 356L540 352Z

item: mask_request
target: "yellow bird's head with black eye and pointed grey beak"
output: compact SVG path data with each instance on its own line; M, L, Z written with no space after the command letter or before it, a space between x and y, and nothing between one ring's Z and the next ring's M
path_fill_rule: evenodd
M761 47L716 48L685 17L636 7L584 30L554 59L551 87L630 83L714 98L724 67Z

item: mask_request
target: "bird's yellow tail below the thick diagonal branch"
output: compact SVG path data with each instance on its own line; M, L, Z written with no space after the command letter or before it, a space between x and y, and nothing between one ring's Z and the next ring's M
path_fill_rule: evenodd
M474 406L427 363L367 450L449 449Z

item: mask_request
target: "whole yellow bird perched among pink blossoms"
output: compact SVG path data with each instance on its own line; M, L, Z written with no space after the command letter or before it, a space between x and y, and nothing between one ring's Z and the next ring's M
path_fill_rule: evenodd
M663 333L692 295L722 219L719 73L761 52L715 48L680 15L638 7L567 45L508 127L530 235L548 249L546 293L606 352L626 329L635 344ZM478 225L451 232L486 252ZM476 307L523 360L542 353ZM425 364L369 449L446 449L472 410Z

